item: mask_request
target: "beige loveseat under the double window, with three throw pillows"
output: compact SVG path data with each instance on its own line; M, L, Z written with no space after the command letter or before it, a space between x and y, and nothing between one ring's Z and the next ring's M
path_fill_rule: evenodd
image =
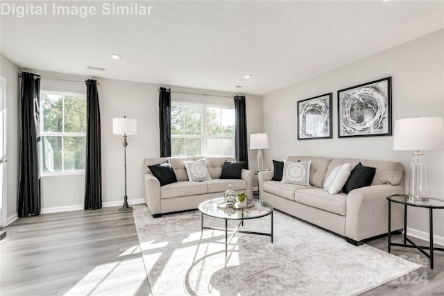
M193 161L203 157L175 158L155 157L144 159L145 203L154 217L173 211L197 209L200 202L223 197L231 185L234 191L244 191L253 198L253 177L255 172L243 169L241 179L219 179L225 160L234 162L233 157L205 157L210 180L189 182L184 161ZM160 164L169 160L178 182L160 186L160 182L151 173L148 165Z

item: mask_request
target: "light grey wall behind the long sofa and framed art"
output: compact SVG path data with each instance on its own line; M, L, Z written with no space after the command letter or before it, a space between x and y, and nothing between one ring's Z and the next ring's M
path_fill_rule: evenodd
M444 30L425 35L333 71L298 82L264 96L264 130L270 149L265 162L289 155L356 157L402 162L409 168L410 153L393 151L393 137L337 137L337 91L353 85L393 77L393 125L396 119L444 116ZM333 92L333 139L297 140L297 105L305 98ZM444 152L425 151L429 193L444 200ZM434 213L434 233L444 243L444 211ZM428 213L409 209L411 233L428 233ZM417 231L420 232L417 232Z

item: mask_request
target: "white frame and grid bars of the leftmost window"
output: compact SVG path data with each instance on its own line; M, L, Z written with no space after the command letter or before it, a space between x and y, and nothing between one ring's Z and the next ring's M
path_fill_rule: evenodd
M78 93L78 92L62 92L62 91L53 91L53 90L46 90L46 89L40 89L40 96L42 94L51 94L56 96L74 96L74 97L82 97L85 98L85 101L87 100L87 94L86 93ZM40 98L39 98L40 99ZM40 99L40 106L41 106L41 99ZM40 108L43 112L42 107ZM40 149L40 175L41 176L51 176L51 175L82 175L85 174L85 169L80 170L74 170L74 171L65 171L65 137L87 137L86 132L65 132L65 98L62 99L62 132L44 132L43 128L43 114L40 114L40 143L39 143L39 149ZM60 172L44 172L43 170L43 137L61 137L62 138L62 171ZM85 154L86 154L86 146L85 146Z

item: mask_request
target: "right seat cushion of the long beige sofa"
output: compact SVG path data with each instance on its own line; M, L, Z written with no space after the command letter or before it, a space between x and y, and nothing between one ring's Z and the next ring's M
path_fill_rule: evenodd
M347 195L345 193L330 194L321 188L298 189L294 200L341 216L346 214Z

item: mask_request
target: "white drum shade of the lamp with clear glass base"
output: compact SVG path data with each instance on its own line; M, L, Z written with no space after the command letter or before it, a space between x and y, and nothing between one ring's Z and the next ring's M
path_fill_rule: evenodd
M443 147L442 117L414 117L395 121L393 150L441 150Z

